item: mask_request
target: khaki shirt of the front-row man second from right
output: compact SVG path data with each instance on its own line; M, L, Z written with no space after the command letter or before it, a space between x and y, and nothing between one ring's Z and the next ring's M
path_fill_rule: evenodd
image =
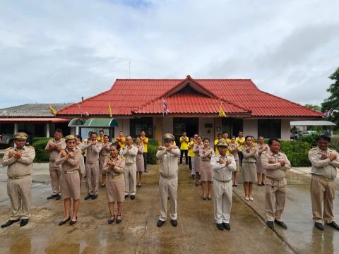
M275 163L268 163L271 159ZM285 160L285 166L281 167L280 161ZM273 152L263 152L261 154L261 164L266 170L266 176L272 179L283 179L286 176L285 170L291 168L291 162L287 159L287 156L283 152L278 152L278 154L273 154Z

